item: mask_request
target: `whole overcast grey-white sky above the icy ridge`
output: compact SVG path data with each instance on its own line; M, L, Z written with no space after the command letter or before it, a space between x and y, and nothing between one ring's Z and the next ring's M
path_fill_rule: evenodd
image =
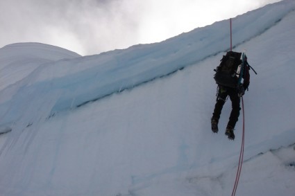
M0 48L41 42L81 55L160 42L280 0L0 0Z

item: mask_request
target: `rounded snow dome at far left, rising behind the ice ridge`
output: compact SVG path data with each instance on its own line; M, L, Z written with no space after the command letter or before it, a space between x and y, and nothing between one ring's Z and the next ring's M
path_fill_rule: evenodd
M80 56L48 44L17 43L4 46L0 48L0 90L22 80L44 63Z

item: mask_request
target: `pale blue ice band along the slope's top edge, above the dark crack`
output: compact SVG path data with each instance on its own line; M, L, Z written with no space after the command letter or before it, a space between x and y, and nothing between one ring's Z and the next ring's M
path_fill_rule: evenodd
M294 2L284 1L236 17L233 19L234 46L237 47L246 40L261 35L294 8ZM51 116L56 112L80 107L112 93L132 89L175 73L186 66L228 50L228 43L228 21L219 21L211 26L196 28L192 32L167 39L165 42L132 46L125 50L40 66L28 77L30 81L15 85L22 85L19 93L37 92L39 88L47 88L46 91L51 93L64 89L49 114ZM72 74L60 75L61 69ZM46 79L48 75L50 80ZM13 88L15 86L6 90L11 91ZM0 116L6 113L3 107L17 105L17 99L12 98L8 103L0 103ZM15 119L9 117L4 121L8 123Z

